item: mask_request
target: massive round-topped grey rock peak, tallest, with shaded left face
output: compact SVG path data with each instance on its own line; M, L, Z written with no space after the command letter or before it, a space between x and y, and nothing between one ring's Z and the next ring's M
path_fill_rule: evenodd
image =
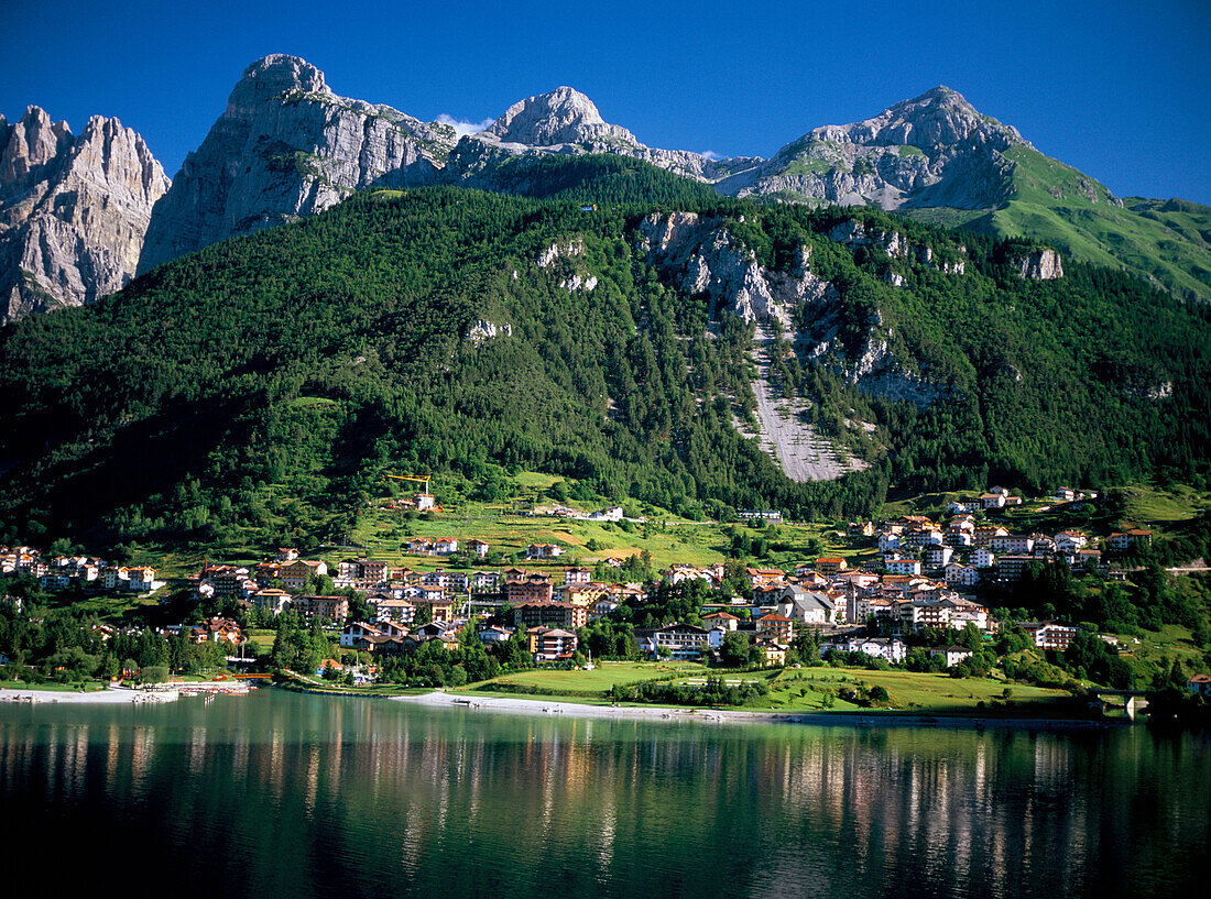
M448 125L338 97L310 63L266 56L156 207L139 271L322 212L358 188L432 183L455 142Z

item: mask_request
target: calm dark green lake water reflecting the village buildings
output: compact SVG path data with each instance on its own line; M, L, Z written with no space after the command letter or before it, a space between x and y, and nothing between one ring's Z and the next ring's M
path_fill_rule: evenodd
M54 894L1196 895L1211 742L575 720L274 690L4 703L0 808L6 881L38 872Z

